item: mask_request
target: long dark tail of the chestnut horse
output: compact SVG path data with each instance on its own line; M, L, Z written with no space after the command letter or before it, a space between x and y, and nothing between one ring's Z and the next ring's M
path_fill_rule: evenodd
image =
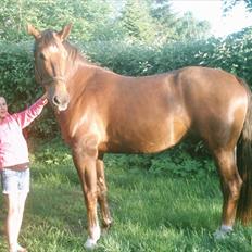
M252 222L252 93L245 81L240 78L238 81L247 89L249 99L245 121L237 144L237 166L242 179L237 218L245 225Z

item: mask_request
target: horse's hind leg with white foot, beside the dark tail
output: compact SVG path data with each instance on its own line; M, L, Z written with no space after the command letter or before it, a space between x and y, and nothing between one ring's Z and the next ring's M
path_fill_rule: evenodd
M215 232L215 237L222 238L232 230L242 180L236 165L235 148L228 151L215 151L214 155L220 176L223 192L222 226Z

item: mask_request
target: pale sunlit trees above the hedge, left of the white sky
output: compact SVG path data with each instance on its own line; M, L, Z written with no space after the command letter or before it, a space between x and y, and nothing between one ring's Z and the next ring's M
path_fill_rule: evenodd
M193 16L175 17L165 1L159 1L158 9L156 4L155 0L2 0L0 39L15 42L27 40L27 23L40 29L60 29L66 23L73 23L75 29L71 38L75 41L128 39L164 43L171 41L171 37L172 41L178 41L194 38L196 34L197 38L198 34L201 34L201 37L207 36L209 25L197 22ZM160 12L162 8L165 8L165 11ZM168 24L175 27L172 34ZM187 35L184 36L185 34Z

